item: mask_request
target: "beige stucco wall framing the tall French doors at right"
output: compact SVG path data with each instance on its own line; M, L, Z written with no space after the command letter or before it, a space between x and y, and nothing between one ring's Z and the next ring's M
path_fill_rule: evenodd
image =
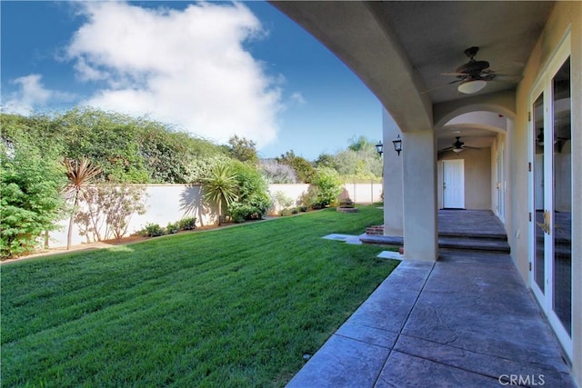
M582 386L582 2L558 2L550 15L544 33L532 52L517 88L517 117L511 142L511 230L509 244L517 268L531 285L528 263L529 244L529 160L527 112L529 95L538 77L551 61L563 37L570 32L570 65L572 75L572 373ZM577 238L578 236L578 238Z

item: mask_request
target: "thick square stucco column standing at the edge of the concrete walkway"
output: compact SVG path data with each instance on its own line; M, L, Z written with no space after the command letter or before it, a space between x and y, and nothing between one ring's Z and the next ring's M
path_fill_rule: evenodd
M437 261L437 157L433 130L402 134L404 256Z

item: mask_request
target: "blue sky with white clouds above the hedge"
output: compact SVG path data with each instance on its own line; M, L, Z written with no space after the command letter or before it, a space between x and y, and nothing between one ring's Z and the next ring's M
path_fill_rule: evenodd
M2 108L91 105L259 155L314 160L382 134L381 105L335 55L264 2L2 1Z

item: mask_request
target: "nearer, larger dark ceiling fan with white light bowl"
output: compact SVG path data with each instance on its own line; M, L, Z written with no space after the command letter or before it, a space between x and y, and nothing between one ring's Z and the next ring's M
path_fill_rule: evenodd
M464 65L457 67L455 73L443 73L442 75L454 75L458 79L448 84L457 84L458 91L466 95L472 95L483 89L487 82L493 81L493 79L499 75L493 70L489 69L489 63L487 61L477 61L475 55L479 51L479 47L473 46L465 50L465 55L468 56L469 62Z

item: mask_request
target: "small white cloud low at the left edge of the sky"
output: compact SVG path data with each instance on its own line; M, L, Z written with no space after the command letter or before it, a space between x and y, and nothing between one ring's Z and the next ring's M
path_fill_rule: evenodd
M2 110L14 114L31 114L38 108L62 101L70 101L73 96L50 90L42 84L42 75L25 75L15 78L11 84L18 85L18 90L9 95L3 103Z

